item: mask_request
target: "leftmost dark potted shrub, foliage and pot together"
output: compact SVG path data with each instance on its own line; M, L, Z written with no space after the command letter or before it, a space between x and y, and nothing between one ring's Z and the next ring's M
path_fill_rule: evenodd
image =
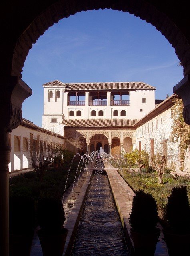
M10 256L30 256L34 228L34 200L25 196L11 196L9 198Z

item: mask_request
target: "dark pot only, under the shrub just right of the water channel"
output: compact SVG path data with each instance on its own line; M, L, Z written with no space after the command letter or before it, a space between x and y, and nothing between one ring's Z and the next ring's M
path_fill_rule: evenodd
M154 256L160 232L160 228L154 228L150 233L136 232L131 228L130 237L133 240L135 255Z

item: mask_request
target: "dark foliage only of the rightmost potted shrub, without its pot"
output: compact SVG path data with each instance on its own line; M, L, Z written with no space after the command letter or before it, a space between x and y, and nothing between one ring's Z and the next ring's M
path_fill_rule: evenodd
M174 187L166 206L169 227L174 233L189 233L190 206L186 186Z

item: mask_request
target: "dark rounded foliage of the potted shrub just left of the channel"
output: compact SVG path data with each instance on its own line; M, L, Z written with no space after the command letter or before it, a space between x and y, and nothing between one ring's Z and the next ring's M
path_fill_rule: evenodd
M62 201L55 198L40 198L37 204L37 220L45 232L61 232L65 222Z

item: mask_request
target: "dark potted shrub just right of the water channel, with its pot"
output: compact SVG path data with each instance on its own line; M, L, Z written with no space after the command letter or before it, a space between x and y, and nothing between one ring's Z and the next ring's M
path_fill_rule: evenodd
M136 191L129 217L130 237L135 255L154 256L161 230L157 228L158 209L153 196L139 189Z

